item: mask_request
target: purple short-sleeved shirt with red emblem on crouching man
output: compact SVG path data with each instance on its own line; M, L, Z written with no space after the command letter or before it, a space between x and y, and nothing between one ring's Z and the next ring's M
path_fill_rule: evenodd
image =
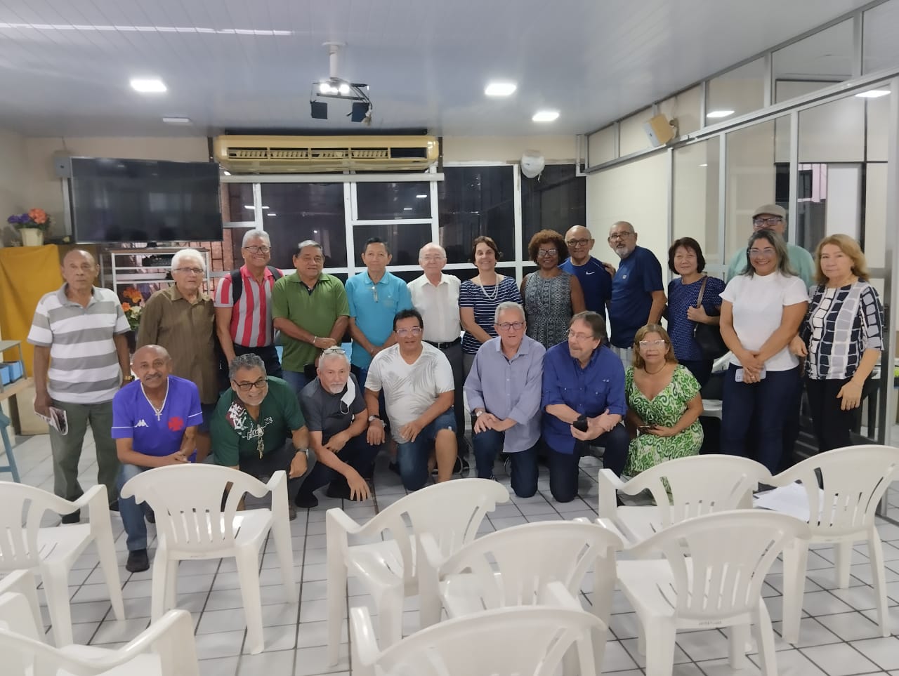
M162 410L157 414L139 380L112 397L112 438L130 439L147 456L170 456L181 448L184 430L203 422L200 390L190 380L169 376Z

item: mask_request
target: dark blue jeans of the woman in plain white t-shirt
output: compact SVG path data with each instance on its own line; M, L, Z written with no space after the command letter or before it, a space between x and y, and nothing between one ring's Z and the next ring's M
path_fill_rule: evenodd
M725 374L721 411L721 452L758 460L771 474L780 471L784 450L784 427L788 416L796 415L797 394L802 387L799 367L768 371L758 383L738 383L731 365ZM747 437L755 448L747 448Z

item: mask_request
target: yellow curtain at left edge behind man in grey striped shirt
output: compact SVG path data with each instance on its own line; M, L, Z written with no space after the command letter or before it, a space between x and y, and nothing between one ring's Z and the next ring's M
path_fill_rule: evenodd
M22 341L25 369L32 375L34 349L25 342L40 297L62 286L57 245L0 247L0 334ZM18 359L15 350L4 360Z

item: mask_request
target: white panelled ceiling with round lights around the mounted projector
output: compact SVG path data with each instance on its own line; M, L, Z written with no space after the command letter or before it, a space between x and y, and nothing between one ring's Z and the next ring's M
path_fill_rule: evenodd
M360 129L343 121L340 103L331 105L331 120L309 116L310 85L328 75L322 43L334 40L347 43L340 75L370 85L372 130L574 134L863 4L0 0L0 129L28 136ZM161 76L169 91L134 93L133 76ZM517 82L518 91L486 99L493 78ZM532 122L540 108L561 116ZM173 127L163 116L194 124Z

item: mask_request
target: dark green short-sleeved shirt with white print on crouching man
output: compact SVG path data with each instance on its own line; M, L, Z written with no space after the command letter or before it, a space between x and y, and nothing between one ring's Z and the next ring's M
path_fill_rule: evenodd
M236 467L241 456L261 457L260 437L263 455L278 450L292 431L306 424L293 388L274 376L265 379L269 391L259 405L257 420L249 414L233 389L226 390L218 400L209 423L216 464Z

